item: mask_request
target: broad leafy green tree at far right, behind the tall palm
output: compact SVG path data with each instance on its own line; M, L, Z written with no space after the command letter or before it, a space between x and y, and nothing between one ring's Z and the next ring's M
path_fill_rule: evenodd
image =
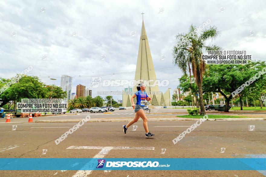
M210 65L203 79L203 90L204 92L221 93L225 98L225 112L229 112L228 106L233 98L231 93L249 81L263 67L265 67L264 61L248 62L246 65ZM253 87L261 79L262 77L256 79L247 87Z

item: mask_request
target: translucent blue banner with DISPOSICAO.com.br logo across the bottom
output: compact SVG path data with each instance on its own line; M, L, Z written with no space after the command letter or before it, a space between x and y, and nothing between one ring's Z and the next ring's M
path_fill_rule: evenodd
M266 170L266 158L0 158L0 170Z

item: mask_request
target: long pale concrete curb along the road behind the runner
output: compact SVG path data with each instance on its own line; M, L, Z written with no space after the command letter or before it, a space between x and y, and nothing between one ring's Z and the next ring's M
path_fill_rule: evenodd
M36 120L35 123L47 123L47 122L79 122L82 119L69 119L69 120ZM91 119L87 122L128 122L132 119ZM151 118L148 121L197 121L200 119L190 119L190 118ZM232 121L232 120L266 120L266 118L226 118L226 119L207 119L208 121L216 121L216 120L223 120L223 121ZM139 119L139 121L143 121Z

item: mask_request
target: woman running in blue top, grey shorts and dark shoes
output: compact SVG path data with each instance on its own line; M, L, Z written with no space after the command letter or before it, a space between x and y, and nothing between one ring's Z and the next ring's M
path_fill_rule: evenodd
M135 122L138 122L138 119L141 117L141 119L143 120L143 127L145 129L145 136L147 138L153 137L154 134L150 133L148 130L148 119L146 117L146 115L144 114L144 110L143 107L145 105L145 100L150 101L151 97L148 97L147 93L144 92L145 90L145 85L141 82L138 84L137 86L137 92L134 93L134 95L131 97L131 103L132 107L135 108L135 117L133 120L131 120L130 122L128 122L127 125L123 125L123 132L126 134L126 131L128 129L128 127L132 124L134 124ZM137 103L136 105L134 104L134 98L137 96Z

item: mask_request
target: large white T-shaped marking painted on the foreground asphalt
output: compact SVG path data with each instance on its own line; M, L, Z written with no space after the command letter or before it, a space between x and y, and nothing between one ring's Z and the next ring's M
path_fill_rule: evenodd
M92 158L104 158L104 156L112 149L154 150L154 147L70 146L66 149L101 149L101 151ZM91 164L91 162L86 163L83 168L86 168ZM93 170L78 170L72 177L86 177L87 175L91 174L92 171Z

